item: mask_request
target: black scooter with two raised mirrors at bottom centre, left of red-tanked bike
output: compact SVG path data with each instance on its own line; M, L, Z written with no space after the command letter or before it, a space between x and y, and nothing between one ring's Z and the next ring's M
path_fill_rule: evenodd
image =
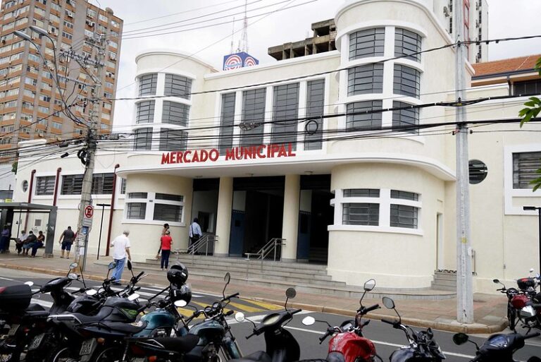
M294 288L288 288L285 291L286 299L284 310L266 315L266 317L261 320L259 325L256 325L248 318L245 318L244 313L235 313L235 320L237 320L237 322L244 322L244 320L248 320L254 325L254 330L249 336L246 337L246 339L253 336L259 336L260 334L264 333L266 350L256 351L253 354L249 354L248 356L244 356L242 358L234 358L229 362L298 361L301 355L299 343L297 342L297 339L293 337L291 332L284 329L284 326L293 319L293 315L301 312L301 309L287 309L287 301L289 301L290 298L294 298L296 295L297 292Z

